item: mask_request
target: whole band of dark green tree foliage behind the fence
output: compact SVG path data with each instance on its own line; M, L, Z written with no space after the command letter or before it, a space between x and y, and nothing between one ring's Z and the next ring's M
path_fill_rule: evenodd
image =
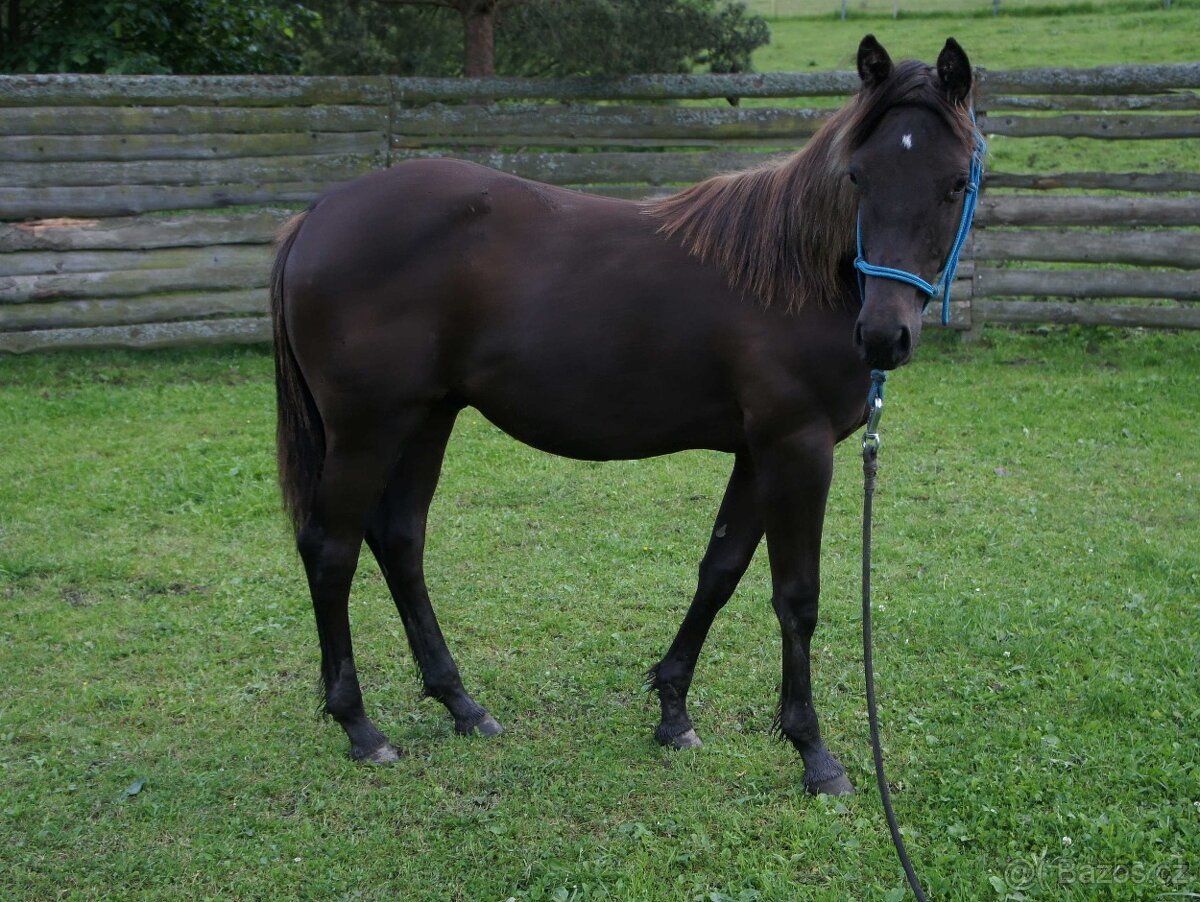
M0 71L461 76L470 16L506 76L738 72L770 40L737 0L0 0Z

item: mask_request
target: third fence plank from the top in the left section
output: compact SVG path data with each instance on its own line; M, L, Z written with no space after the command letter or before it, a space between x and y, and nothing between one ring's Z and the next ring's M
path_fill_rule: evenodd
M0 115L4 115L0 113ZM17 134L0 142L0 162L226 160L322 154L368 155L388 149L382 132L277 134Z

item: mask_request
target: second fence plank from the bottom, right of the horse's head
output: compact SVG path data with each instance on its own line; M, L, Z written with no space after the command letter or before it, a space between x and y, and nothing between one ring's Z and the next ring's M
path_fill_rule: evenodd
M1157 297L1200 301L1200 272L1128 270L1008 270L977 267L974 299Z

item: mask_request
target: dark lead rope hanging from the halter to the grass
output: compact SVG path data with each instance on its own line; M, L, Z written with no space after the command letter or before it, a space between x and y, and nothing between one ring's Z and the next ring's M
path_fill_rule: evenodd
M908 885L918 902L926 902L925 891L920 888L917 872L908 860L908 853L900 836L895 812L892 810L892 793L888 790L888 778L883 774L883 750L880 745L880 717L875 706L875 666L871 660L871 500L875 495L875 475L878 471L880 455L880 417L883 415L883 383L887 373L882 369L871 371L871 391L866 396L866 431L863 433L863 674L866 678L866 716L871 723L871 752L875 754L875 780L880 784L880 799L883 801L883 813L888 818L892 831L892 843L896 847L896 856L904 867Z

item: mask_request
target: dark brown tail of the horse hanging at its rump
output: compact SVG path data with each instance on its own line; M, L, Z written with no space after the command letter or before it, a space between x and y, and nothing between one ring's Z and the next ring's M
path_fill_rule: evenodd
M283 321L283 270L308 211L293 216L276 237L271 270L271 325L275 336L275 444L283 506L296 531L312 511L317 480L325 461L325 427L308 384L296 363Z

